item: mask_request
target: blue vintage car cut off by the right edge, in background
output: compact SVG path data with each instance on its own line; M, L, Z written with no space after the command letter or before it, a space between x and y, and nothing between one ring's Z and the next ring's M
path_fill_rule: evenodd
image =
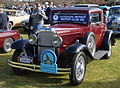
M112 6L109 9L107 28L114 31L120 31L120 5Z

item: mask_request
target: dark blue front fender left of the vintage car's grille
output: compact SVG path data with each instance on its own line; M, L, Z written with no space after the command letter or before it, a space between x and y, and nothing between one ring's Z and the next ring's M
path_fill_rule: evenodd
M23 50L26 42L29 42L29 40L28 39L18 39L18 40L14 41L12 43L11 48L12 49L21 49L21 50Z

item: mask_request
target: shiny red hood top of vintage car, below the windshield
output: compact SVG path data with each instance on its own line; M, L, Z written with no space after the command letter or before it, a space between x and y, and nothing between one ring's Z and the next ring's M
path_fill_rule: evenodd
M58 35L68 35L73 33L83 33L87 26L80 24L55 24L52 26Z

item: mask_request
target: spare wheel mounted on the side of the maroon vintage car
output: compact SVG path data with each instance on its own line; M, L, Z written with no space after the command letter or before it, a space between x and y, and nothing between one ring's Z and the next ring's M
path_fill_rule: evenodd
M85 34L83 43L88 47L91 55L94 57L96 51L96 40L93 32L87 32Z

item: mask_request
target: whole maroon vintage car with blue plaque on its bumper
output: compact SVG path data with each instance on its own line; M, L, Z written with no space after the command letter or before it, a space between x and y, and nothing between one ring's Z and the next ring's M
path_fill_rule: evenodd
M51 25L37 30L29 39L12 43L9 65L16 75L26 70L69 74L70 83L82 83L92 60L108 59L115 39L107 30L103 11L93 7L61 7L51 11Z

